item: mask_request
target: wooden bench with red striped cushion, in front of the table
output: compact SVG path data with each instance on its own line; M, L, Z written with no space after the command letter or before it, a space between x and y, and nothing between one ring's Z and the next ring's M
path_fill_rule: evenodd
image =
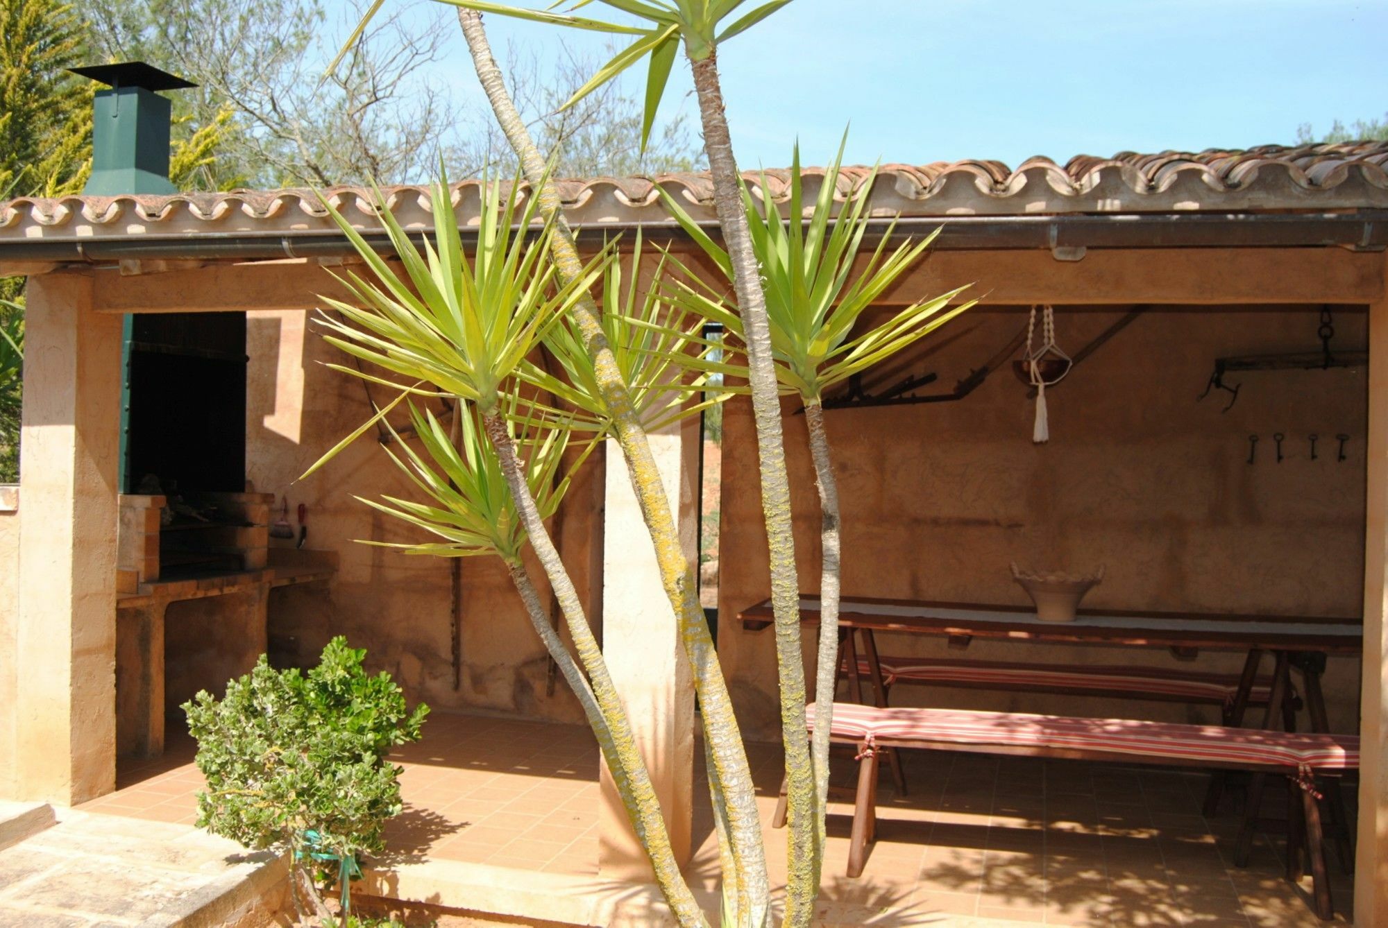
M815 706L806 706L809 727ZM1216 767L1287 775L1302 802L1288 805L1287 877L1302 875L1302 852L1314 878L1316 914L1334 916L1326 874L1317 775L1338 775L1359 767L1359 738L1187 725L1131 719L1074 719L1006 712L880 707L834 703L833 741L856 748L859 770L848 875L862 874L877 827L877 763L883 748L963 750L1120 763ZM786 824L786 792L772 823Z

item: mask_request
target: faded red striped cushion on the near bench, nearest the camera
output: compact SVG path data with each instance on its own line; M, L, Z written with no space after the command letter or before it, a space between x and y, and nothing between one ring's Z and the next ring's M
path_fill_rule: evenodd
M811 728L815 706L806 706ZM877 742L945 742L1008 748L1055 748L1162 757L1166 762L1334 771L1359 767L1355 735L1288 734L1221 725L1131 719L1074 719L1010 712L879 709L834 703L834 738L866 748Z

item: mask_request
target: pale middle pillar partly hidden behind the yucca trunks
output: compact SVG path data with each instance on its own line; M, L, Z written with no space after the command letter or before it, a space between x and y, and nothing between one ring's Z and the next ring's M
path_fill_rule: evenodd
M698 419L691 422L697 436ZM691 566L690 583L694 583L698 459L693 455L698 452L698 442L697 438L683 441L680 430L680 424L673 424L652 431L650 440L665 492L676 509L680 541ZM679 626L661 587L651 537L637 508L622 449L611 440L602 545L604 653L661 798L675 854L684 863L690 854L694 691ZM607 767L602 768L598 871L615 879L654 879Z

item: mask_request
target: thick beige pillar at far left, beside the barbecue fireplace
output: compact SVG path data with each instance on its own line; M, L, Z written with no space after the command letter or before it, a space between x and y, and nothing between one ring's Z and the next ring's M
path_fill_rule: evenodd
M115 534L121 316L92 277L29 279L19 522L21 799L115 787Z

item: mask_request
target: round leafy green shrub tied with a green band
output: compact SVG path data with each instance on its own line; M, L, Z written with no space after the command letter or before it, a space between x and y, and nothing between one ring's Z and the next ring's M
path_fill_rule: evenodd
M253 849L291 852L291 888L303 879L322 914L314 881L341 879L344 911L357 857L384 848L386 820L400 814L396 745L419 739L429 713L409 713L390 674L362 670L366 652L333 638L307 674L255 669L218 701L203 691L183 703L197 739L197 824Z

